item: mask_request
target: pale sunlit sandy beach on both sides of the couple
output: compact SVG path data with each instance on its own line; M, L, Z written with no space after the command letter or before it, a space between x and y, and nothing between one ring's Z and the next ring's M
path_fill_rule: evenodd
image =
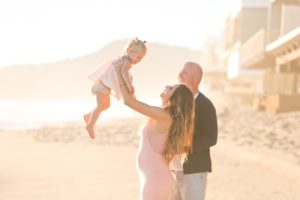
M208 200L300 198L300 113L251 110L219 115ZM0 132L1 200L138 199L135 169L141 119Z

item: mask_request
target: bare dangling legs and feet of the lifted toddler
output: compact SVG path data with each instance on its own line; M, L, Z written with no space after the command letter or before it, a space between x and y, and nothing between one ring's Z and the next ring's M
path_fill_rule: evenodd
M97 93L96 100L97 107L92 112L84 116L84 120L87 123L86 130L89 132L92 139L95 138L94 127L99 115L110 106L110 96L103 93Z

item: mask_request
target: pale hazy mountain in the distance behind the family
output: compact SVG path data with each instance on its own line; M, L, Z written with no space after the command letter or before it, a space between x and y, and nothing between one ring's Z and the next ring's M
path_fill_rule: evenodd
M121 55L127 41L116 41L82 57L39 65L16 65L0 69L0 100L85 100L91 97L88 73L106 59ZM164 85L177 83L186 61L199 61L201 52L148 44L141 63L133 66L137 96L159 98Z

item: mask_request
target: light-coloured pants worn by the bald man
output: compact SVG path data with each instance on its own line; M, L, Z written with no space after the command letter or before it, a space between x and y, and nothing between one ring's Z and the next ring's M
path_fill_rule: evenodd
M183 174L182 171L172 171L176 180L170 200L204 200L207 184L207 172Z

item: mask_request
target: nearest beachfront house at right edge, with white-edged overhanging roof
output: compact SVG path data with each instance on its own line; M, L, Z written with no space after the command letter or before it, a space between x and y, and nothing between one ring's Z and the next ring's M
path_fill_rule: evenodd
M273 0L266 53L274 64L265 79L267 110L300 110L300 1Z

